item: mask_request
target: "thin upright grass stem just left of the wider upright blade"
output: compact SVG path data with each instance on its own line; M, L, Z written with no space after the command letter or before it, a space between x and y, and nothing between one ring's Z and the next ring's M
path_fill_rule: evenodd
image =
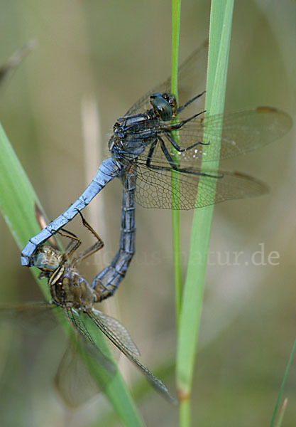
M181 0L172 0L172 80L171 92L177 100L177 68L179 57L179 37L180 37L180 15L181 15ZM177 132L174 132L173 137L178 141ZM172 149L172 151L174 151ZM178 161L177 154L172 155L175 162ZM179 188L179 178L175 172L172 172L172 186ZM172 194L172 205L177 206L179 203L178 194ZM172 248L174 254L174 270L175 270L175 311L177 325L180 322L181 303L182 303L182 270L181 270L181 249L180 249L180 211L172 211Z

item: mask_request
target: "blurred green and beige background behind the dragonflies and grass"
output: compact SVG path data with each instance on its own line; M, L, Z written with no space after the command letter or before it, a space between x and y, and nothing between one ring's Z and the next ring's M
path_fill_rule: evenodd
M182 2L180 60L207 38L209 0ZM226 110L278 107L295 117L295 1L235 3ZM117 117L170 73L170 1L1 1L0 63L28 40L37 47L1 88L0 120L48 218L77 199L107 155ZM197 76L198 78L198 76ZM97 136L98 135L98 136ZM194 426L267 426L296 335L295 129L224 169L270 185L260 199L216 206L197 354ZM0 172L1 173L1 172ZM1 189L0 189L1 191ZM84 211L105 248L82 273L90 280L119 244L121 184L109 184ZM175 305L170 212L138 207L136 255L116 296L104 303L141 349L152 371L172 366ZM192 212L182 221L184 272ZM89 245L75 220L71 231ZM40 300L31 272L0 218L1 304ZM28 236L30 238L31 236ZM261 254L264 251L264 263ZM239 265L234 252L243 251ZM278 265L268 263L276 251ZM255 256L256 264L251 263ZM1 426L119 426L103 396L68 411L51 381L61 331L18 334L1 325ZM43 339L41 339L43 337ZM130 384L145 382L120 359ZM161 371L160 371L161 372ZM173 371L162 377L175 391ZM296 425L296 369L284 396L285 426ZM148 426L177 426L177 409L152 389L138 398ZM136 399L138 394L135 394ZM105 420L105 421L103 421Z

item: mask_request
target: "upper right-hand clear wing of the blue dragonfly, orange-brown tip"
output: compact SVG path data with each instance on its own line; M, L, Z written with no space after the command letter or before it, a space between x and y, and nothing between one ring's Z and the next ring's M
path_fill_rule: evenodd
M290 127L290 116L272 107L227 112L202 119L198 116L178 131L179 145L182 149L197 142L209 145L197 144L182 152L180 162L193 165L200 164L201 160L209 162L245 154L283 137Z

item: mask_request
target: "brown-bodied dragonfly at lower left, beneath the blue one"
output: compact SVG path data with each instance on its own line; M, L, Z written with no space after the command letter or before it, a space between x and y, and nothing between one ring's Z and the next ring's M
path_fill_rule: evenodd
M5 311L4 308L2 308L0 310L1 315L12 312L12 314L16 315L16 317L19 317L21 320L23 314L28 315L30 313L34 314L35 312L35 315L40 317L40 315L45 314L46 311L60 310L72 327L73 332L78 336L78 343L82 351L86 353L87 359L99 363L105 369L107 377L106 379L104 377L103 381L100 381L103 382L102 386L104 387L106 386L106 384L104 384L106 381L111 381L115 372L115 365L101 351L96 342L94 342L92 337L94 328L92 328L93 332L91 334L84 320L84 317L87 317L92 321L95 327L101 330L101 332L125 354L131 362L133 362L133 364L146 376L150 384L163 395L165 399L172 403L176 403L175 398L170 394L168 388L163 384L163 381L153 375L149 369L138 360L140 353L124 325L114 319L114 317L106 315L94 306L97 302L104 299L102 295L106 292L106 288L98 280L93 280L92 285L89 285L87 280L80 275L78 265L95 252L99 251L99 249L104 246L104 243L92 226L84 219L81 212L78 212L78 214L80 214L82 218L83 225L96 239L92 246L80 253L80 255L75 255L82 242L75 234L62 228L58 233L70 241L64 252L59 251L54 246L43 245L38 247L33 255L33 266L41 271L40 278L46 278L48 281L51 301L20 305L14 307L13 310L10 309ZM106 273L102 273L103 282L105 275ZM70 349L67 349L65 357L62 359L55 382L64 401L70 404L70 406L76 406L77 399L84 399L84 395L89 393L89 391L82 390L80 393L79 390L72 390L72 387L75 386L75 382L77 382L77 384L82 382L80 378L73 378L73 376L80 376L80 372L75 372L75 375L71 372L73 369L71 367L73 364L72 359L74 359L74 363L77 364L77 356L75 355L73 347L70 347ZM82 364L80 365L83 366ZM79 370L82 370L82 368ZM83 375L89 376L85 369L83 369ZM87 384L89 380L87 379L86 381L84 379L83 382ZM92 384L91 386L93 387Z

